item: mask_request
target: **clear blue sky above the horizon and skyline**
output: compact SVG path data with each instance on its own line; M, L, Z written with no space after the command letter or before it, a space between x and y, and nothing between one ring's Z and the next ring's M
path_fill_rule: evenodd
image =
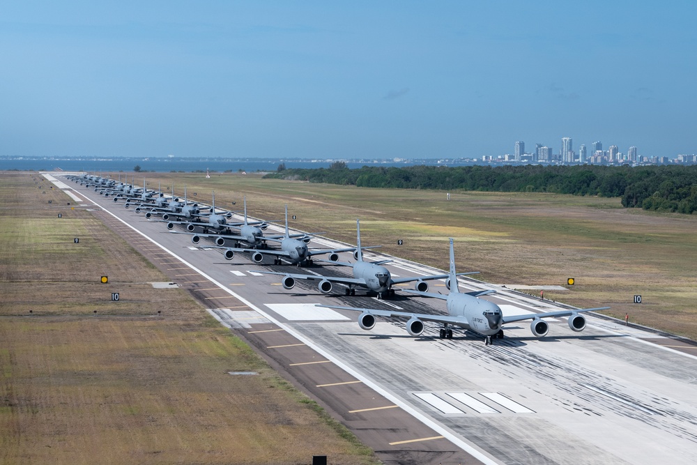
M6 2L0 155L696 153L696 19L695 1Z

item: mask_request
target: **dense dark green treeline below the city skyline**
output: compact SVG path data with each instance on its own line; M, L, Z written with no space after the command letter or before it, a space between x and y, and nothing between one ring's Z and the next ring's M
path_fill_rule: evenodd
M697 166L604 167L362 167L282 169L267 178L356 185L365 188L553 192L622 197L622 205L691 214L697 211Z

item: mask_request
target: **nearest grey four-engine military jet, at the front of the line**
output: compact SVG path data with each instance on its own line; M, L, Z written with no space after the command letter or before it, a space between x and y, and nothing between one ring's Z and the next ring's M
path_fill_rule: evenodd
M484 336L484 344L491 344L492 337L503 338L503 325L514 321L533 320L530 323L530 331L535 337L544 337L549 330L549 323L543 318L569 317L568 324L572 331L578 333L585 329L585 317L583 312L595 310L608 310L610 307L583 308L578 310L558 310L545 313L528 313L522 315L505 316L498 305L488 300L479 298L487 294L492 294L493 290L460 292L457 286L457 275L455 273L455 258L452 250L452 238L450 239L450 273L445 282L450 289L447 296L429 292L411 291L406 292L418 294L425 297L434 297L446 301L447 315L431 315L411 312L394 312L392 310L375 310L370 308L339 307L337 305L319 305L320 307L337 308L341 310L351 310L361 312L358 317L358 326L365 330L371 330L375 326L375 317L401 317L406 318L406 332L413 337L422 335L425 329L424 321L434 321L443 323L440 337L452 339L452 329L450 326L458 326L465 330L472 330Z

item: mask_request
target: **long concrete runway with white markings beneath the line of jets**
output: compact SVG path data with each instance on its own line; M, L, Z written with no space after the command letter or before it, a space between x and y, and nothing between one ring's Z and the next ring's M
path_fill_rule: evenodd
M392 300L377 300L360 289L347 297L339 286L337 294L325 295L312 282L286 291L280 276L249 270L302 269L253 264L246 254L226 261L220 250L190 247L188 236L171 234L163 223L123 208L123 202L54 175L85 203L105 208L95 214L385 463L697 462L696 345L593 316L583 333L572 333L565 319L548 320L549 335L541 339L533 337L529 323L514 323L492 346L461 330L452 340L440 340L432 323L419 338L397 320L378 321L364 331L355 323L357 314L313 305L397 305L406 312L443 314L445 303L399 292ZM369 237L362 241L373 245ZM319 238L311 245L343 244ZM447 255L445 238L443 250L434 253ZM372 251L368 257L382 256ZM342 259L353 261L348 254ZM387 266L398 276L442 273L398 258ZM338 266L309 270L350 273ZM496 289L487 298L505 312L558 308L468 277L461 282L466 291ZM430 285L431 291L447 293L443 282Z

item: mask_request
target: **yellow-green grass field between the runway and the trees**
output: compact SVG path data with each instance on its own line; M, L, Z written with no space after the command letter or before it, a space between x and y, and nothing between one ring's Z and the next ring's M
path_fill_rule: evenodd
M112 174L115 177L115 174ZM459 270L499 284L565 285L545 297L697 339L697 218L625 209L620 199L536 193L379 190L261 179L258 174L144 173L150 186L183 186L194 199L283 218L284 204L305 231L447 268L447 238L456 240ZM140 175L137 182L141 183ZM233 206L233 201L236 205ZM404 241L398 246L397 240ZM633 303L634 295L642 302Z

